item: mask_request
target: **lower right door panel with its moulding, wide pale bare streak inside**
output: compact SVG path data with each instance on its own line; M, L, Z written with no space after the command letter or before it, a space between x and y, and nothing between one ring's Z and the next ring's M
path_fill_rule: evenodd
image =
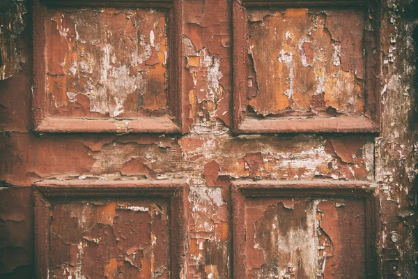
M373 278L375 204L362 184L236 183L234 274Z

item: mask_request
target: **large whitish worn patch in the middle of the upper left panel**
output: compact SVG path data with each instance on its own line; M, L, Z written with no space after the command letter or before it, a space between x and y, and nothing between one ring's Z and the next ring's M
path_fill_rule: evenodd
M118 116L125 112L124 105L129 96L132 93L144 94L147 90L147 80L144 78L146 73L137 72L134 73L132 68L137 68L139 64L145 63L152 52L153 48L159 49L160 45L155 44L155 33L150 31L148 35L139 35L136 38L139 41L138 47L132 47L132 50L127 55L120 57L121 54L116 52L115 48L107 43L107 39L94 40L93 38L83 38L83 33L79 32L83 22L79 17L74 17L75 20L75 38L77 43L87 43L94 45L100 52L100 58L95 58L95 54L88 52L79 52L79 61L73 61L72 66L68 69L68 75L86 78L84 88L77 92L72 91L72 87L69 87L67 92L68 100L75 102L75 96L81 93L88 97L90 100L90 111L99 112L101 114L109 114L111 117ZM62 29L60 24L61 18L52 18L57 22L57 29ZM68 31L66 29L60 30L60 32ZM63 34L61 34L63 36ZM107 36L112 36L112 31L107 30ZM85 36L84 36L85 37ZM93 36L94 37L94 36ZM167 59L168 53L164 52L164 59ZM164 61L165 63L166 61ZM92 75L95 72L94 76Z

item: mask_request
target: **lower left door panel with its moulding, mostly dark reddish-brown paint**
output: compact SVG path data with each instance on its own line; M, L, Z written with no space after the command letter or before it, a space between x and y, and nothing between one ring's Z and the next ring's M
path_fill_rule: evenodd
M38 183L39 278L176 278L184 238L183 186L153 186Z

